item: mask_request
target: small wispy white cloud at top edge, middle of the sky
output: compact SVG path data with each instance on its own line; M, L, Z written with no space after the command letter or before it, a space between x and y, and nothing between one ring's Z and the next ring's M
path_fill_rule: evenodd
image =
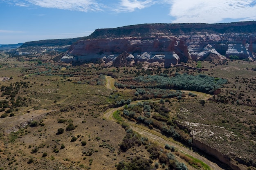
M119 6L114 9L116 12L133 12L135 9L144 9L146 7L150 7L151 5L155 4L153 0L144 0L144 1L138 1L138 0L121 0L119 3Z

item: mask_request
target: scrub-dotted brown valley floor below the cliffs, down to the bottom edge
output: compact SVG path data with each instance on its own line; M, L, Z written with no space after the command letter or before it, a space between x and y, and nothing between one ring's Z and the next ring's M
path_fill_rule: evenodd
M0 169L230 169L197 141L256 169L254 62L186 63L198 72L55 57L0 59Z

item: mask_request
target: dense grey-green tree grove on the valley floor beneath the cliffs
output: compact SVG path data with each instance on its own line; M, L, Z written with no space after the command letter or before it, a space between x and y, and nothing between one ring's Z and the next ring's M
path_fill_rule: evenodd
M123 80L122 83L115 82L118 88L161 88L199 91L213 93L216 89L226 84L227 79L215 78L208 75L176 75L175 77L164 77L159 75L138 76L134 79Z

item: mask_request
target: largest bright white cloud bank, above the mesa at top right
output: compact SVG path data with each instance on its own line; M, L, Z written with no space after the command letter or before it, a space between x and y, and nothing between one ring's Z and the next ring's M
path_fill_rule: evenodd
M256 20L255 0L172 0L170 15L174 23L217 23L225 18Z

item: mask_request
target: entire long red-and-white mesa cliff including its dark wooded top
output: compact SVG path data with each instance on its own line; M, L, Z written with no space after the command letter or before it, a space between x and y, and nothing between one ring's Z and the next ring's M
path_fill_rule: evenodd
M72 44L63 62L103 59L106 66L127 52L137 62L171 64L204 60L210 54L221 59L256 59L256 22L223 24L141 24L97 29ZM128 55L128 56L129 56ZM110 62L110 63L109 63ZM131 63L132 62L132 63Z

